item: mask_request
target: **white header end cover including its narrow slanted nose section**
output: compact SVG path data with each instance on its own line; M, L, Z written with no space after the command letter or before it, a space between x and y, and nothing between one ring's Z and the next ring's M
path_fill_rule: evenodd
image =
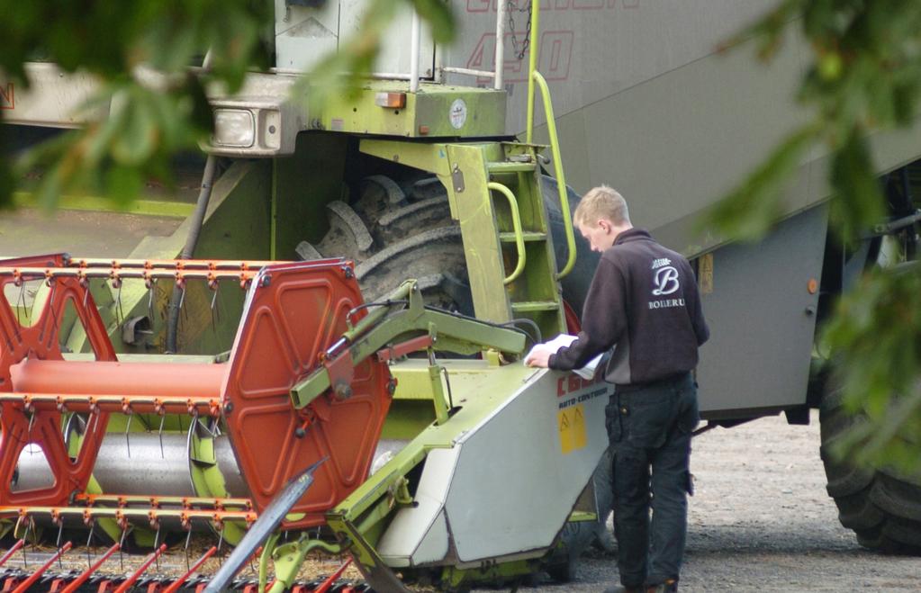
M428 454L417 505L402 508L379 541L384 562L438 564L452 548L461 563L545 552L608 447L609 388L530 373L452 448Z

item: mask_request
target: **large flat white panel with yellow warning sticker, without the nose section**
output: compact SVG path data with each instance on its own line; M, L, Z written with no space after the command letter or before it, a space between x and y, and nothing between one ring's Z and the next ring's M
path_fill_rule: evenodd
M550 546L608 447L610 386L546 369L534 381L459 439L446 511L461 562Z

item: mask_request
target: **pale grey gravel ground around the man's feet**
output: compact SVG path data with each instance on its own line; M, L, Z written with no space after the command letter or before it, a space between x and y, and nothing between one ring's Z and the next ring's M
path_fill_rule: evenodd
M819 420L781 417L694 439L682 591L921 591L921 558L883 556L841 527L825 493ZM613 557L589 552L577 580L529 590L601 591Z

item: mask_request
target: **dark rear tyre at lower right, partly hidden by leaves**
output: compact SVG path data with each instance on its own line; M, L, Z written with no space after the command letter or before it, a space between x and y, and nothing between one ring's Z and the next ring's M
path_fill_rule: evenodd
M838 507L841 524L852 529L857 542L870 550L921 555L921 480L908 480L891 469L858 468L834 459L834 442L850 426L866 421L845 411L839 391L822 399L819 418L826 490Z

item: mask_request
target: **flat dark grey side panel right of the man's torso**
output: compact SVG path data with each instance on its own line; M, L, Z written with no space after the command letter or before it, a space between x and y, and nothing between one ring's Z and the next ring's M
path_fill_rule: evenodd
M713 253L713 292L703 297L710 341L697 371L701 413L778 408L806 399L828 209L793 216L754 245Z

